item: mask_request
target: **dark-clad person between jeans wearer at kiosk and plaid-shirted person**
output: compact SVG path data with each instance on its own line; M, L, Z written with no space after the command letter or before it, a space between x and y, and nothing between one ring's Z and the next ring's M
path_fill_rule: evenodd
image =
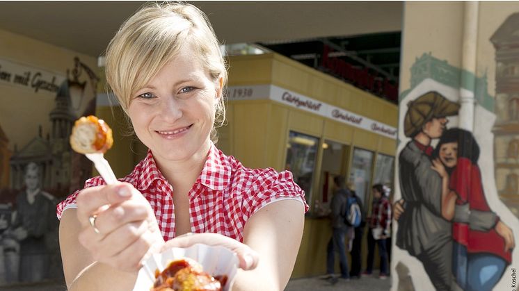
M362 200L358 197L355 192L355 184L349 183L348 189L350 191L351 197L355 197L358 206L361 211L361 220L360 225L354 228L353 231L353 245L351 247L350 255L351 255L351 270L350 270L350 278L360 278L360 272L362 271L362 236L364 234L364 229L366 226L366 213L365 209L362 206Z

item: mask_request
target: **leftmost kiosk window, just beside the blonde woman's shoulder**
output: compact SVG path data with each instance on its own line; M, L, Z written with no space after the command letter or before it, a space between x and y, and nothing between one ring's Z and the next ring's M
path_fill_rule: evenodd
M285 169L294 174L294 181L305 191L309 205L312 201L311 189L318 146L319 138L290 131Z

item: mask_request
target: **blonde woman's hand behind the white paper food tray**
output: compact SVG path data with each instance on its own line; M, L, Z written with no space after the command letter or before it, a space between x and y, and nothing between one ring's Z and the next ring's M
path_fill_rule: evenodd
M250 249L248 245L218 233L186 233L173 240L168 240L161 251L166 251L172 247L191 247L193 244L221 246L234 251L239 259L239 267L243 270L254 269L259 260L257 253Z

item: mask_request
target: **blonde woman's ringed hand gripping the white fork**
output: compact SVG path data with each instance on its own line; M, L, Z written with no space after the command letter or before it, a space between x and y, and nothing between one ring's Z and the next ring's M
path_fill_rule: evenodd
M164 244L150 203L129 183L82 190L77 219L83 247L97 262L118 270L137 272L142 260Z

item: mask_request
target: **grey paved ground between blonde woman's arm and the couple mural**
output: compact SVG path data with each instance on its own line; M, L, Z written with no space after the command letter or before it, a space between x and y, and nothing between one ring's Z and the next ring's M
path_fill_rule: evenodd
M391 278L380 280L376 277L362 277L344 281L339 279L334 285L319 277L299 278L289 281L285 291L387 291Z

